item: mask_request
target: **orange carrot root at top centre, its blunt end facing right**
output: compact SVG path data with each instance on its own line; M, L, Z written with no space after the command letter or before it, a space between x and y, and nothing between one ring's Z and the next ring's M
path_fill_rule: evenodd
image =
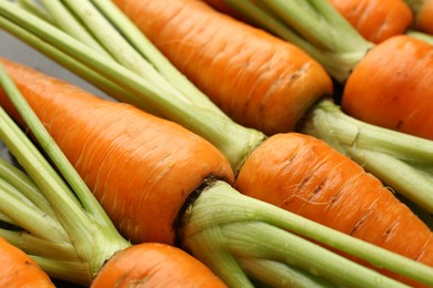
M294 130L331 78L298 47L201 1L114 1L168 59L235 122ZM233 35L233 37L230 37Z

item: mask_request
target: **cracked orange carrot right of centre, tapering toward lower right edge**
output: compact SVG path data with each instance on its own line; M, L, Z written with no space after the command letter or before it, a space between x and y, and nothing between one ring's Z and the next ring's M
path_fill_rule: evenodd
M235 187L433 266L427 226L380 181L321 140L298 133L268 138L245 162Z

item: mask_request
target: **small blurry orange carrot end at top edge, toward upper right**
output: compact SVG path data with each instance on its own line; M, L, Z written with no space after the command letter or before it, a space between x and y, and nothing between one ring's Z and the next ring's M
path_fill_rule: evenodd
M380 43L403 34L413 21L410 7L403 0L329 0L366 39Z

